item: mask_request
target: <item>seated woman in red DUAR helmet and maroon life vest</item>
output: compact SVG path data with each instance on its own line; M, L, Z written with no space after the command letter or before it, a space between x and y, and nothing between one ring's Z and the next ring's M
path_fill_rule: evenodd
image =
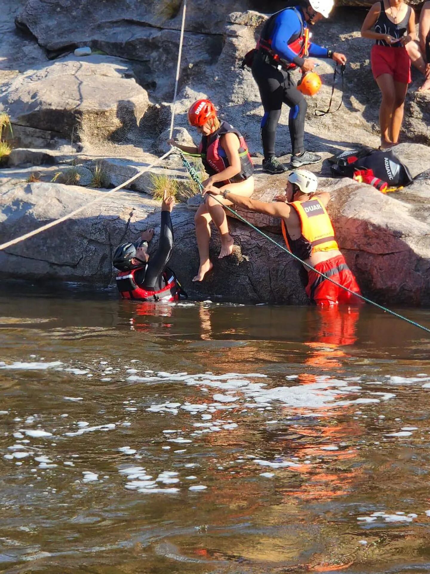
M169 139L168 144L185 153L200 154L208 179L202 182L205 190L214 186L219 189L227 187L236 195L250 197L254 191L254 178L251 156L242 135L227 122L220 122L212 102L206 99L197 100L188 111L188 121L202 134L200 145L185 146ZM221 197L224 205L231 201ZM234 239L229 233L227 218L222 205L212 196L207 195L205 203L197 210L194 222L200 268L193 281L202 281L213 265L209 259L210 222L213 221L221 235L219 258L230 255Z

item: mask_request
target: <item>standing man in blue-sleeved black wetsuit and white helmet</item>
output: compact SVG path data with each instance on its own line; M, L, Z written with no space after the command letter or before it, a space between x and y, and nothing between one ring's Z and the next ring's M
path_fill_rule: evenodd
M273 14L265 23L257 44L252 64L252 75L258 84L264 117L261 121L261 142L264 150L263 171L283 173L286 168L275 156L276 127L282 104L290 106L290 129L292 168L315 164L321 157L306 152L303 145L304 119L307 103L297 89L290 72L299 67L303 73L314 69L309 56L331 58L337 64L345 64L346 57L309 42L308 25L322 17L328 18L334 0L298 0L298 6L288 7Z

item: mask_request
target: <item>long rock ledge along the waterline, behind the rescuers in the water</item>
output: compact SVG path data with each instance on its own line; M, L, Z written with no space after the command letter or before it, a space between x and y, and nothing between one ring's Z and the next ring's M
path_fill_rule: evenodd
M1 172L0 179L0 242L68 214L96 197L101 200L61 226L0 252L5 277L109 282L112 249L135 239L145 228L159 227L160 204L148 197L124 191L104 195L52 183L19 183L8 181L6 172ZM256 192L256 197L271 199L269 185L279 192L270 181L267 179L267 188ZM321 179L320 185L332 195L329 212L339 247L363 293L390 305L430 305L430 180L419 176L408 191L396 195L384 195L349 179ZM265 187L264 177L261 186ZM249 212L239 212L283 245L279 220L264 220L264 216L252 219ZM194 212L185 205L173 212L175 250L171 266L191 296L306 302L306 273L300 264L232 219L230 229L236 243L232 257L217 259L220 244L214 233L214 272L202 284L193 284L191 279L198 268L193 219ZM64 242L64 236L73 236L73 242ZM151 245L151 250L155 248Z

